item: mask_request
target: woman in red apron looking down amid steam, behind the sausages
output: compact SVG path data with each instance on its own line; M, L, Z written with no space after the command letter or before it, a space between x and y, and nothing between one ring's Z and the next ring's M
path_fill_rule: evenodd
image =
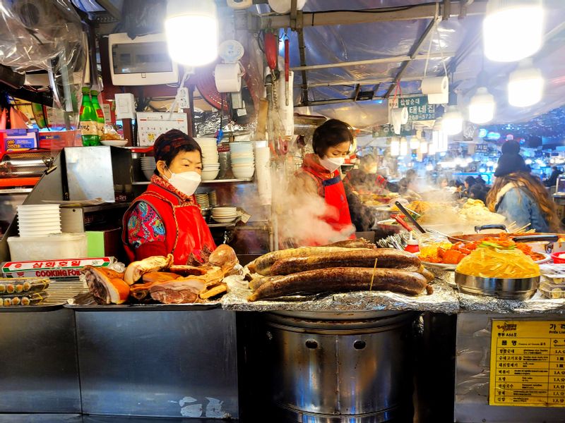
M340 166L345 161L352 142L353 130L350 125L337 119L326 121L314 131L314 154L304 156L298 177L306 190L316 192L326 200L329 207L323 220L334 231L355 238L355 235L351 235L355 228L351 223L340 173Z

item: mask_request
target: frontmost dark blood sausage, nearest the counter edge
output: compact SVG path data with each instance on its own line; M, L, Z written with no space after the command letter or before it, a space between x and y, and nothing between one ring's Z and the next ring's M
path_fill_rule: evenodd
M333 267L301 271L287 276L273 276L258 286L249 301L285 295L338 293L352 290L390 290L417 295L426 290L427 280L419 273L400 269Z

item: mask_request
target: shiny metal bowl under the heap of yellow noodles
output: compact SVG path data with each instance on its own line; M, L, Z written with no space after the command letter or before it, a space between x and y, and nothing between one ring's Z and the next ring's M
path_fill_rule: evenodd
M460 292L472 295L491 295L505 300L528 300L533 297L540 276L533 278L482 278L455 272Z

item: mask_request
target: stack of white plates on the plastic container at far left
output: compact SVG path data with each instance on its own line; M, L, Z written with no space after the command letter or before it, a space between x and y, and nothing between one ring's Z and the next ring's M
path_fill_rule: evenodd
M61 233L59 204L26 204L18 206L20 237L46 236Z

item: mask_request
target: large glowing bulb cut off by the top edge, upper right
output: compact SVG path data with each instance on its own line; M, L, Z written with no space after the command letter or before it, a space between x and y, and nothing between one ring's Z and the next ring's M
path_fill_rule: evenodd
M542 46L543 26L542 0L490 0L482 21L484 55L503 62L531 56Z

